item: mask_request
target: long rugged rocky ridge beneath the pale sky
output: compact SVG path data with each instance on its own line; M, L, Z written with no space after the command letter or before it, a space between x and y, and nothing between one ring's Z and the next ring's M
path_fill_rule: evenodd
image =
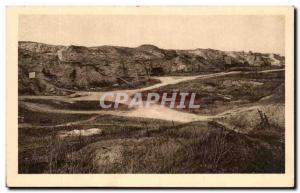
M149 84L151 76L284 67L276 54L212 49L164 50L153 45L55 46L19 42L19 94L65 95ZM34 77L29 78L29 73Z

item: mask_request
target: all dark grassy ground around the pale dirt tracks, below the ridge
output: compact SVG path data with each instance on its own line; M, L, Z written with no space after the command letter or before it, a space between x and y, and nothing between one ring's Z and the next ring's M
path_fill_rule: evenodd
M196 79L160 90L197 92L201 108L192 113L228 113L179 123L37 112L20 105L19 173L285 172L284 72ZM95 110L98 103L26 102L75 111ZM241 107L254 108L234 112ZM90 129L101 132L81 133Z

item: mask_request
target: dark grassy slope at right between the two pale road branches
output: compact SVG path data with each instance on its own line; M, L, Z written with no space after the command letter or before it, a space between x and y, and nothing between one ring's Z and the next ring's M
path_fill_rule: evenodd
M200 109L186 109L197 114L217 114L242 105L262 103L260 99L274 96L267 103L284 102L284 71L242 73L209 79L196 79L156 89L159 92L195 92ZM153 92L155 92L153 91Z

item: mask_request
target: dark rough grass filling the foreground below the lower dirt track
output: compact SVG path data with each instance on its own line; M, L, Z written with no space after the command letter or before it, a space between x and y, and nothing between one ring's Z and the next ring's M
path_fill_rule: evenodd
M103 132L58 136L62 130L95 127ZM78 125L19 129L19 172L282 173L283 136L274 125L257 124L243 134L214 121L178 124L98 116Z

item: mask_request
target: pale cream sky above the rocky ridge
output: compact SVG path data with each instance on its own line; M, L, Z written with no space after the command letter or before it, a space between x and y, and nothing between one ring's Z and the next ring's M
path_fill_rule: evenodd
M284 16L21 15L19 40L54 45L212 48L284 55Z

